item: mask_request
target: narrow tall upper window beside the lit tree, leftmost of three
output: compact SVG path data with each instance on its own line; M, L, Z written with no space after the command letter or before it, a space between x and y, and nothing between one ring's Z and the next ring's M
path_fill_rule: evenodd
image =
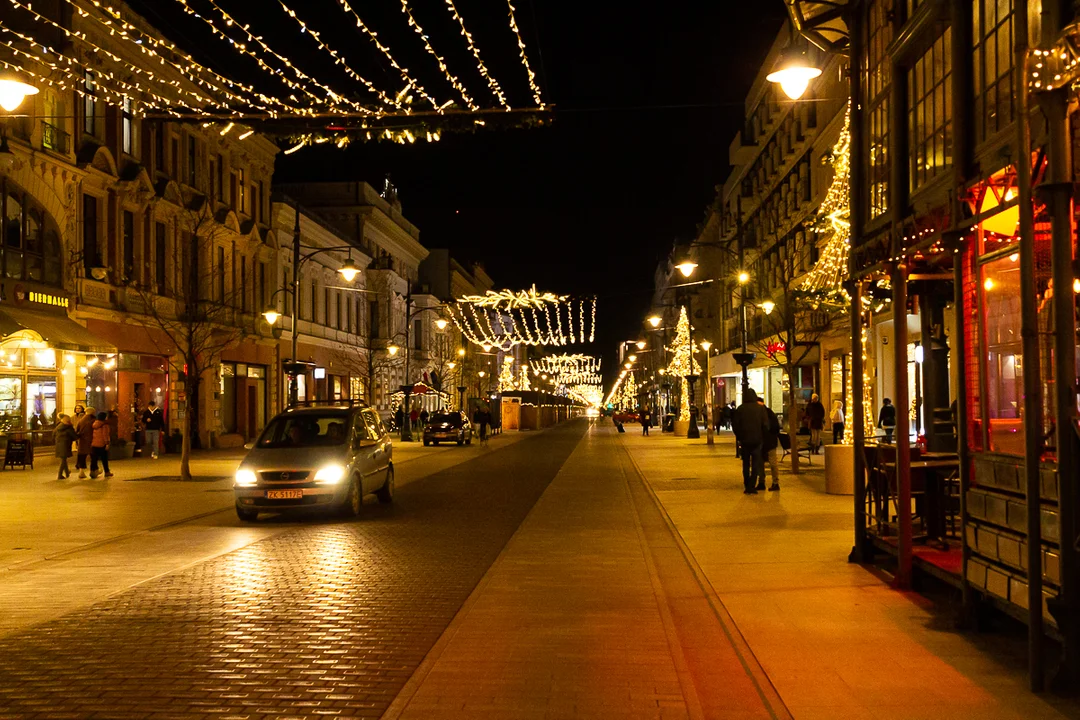
M866 59L863 95L867 105L866 181L869 189L869 218L889 208L889 85L890 59L886 52L892 41L892 21L886 0L872 0L867 10Z

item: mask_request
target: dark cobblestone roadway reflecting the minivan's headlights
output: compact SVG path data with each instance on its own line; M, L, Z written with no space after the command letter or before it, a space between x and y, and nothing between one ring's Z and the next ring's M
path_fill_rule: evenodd
M569 423L0 640L0 717L378 717L578 444Z

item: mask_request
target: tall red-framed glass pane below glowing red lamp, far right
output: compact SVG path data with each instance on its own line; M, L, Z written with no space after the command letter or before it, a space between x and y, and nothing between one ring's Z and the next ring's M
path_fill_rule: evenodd
M1016 255L982 266L986 422L989 450L1024 454L1021 276Z

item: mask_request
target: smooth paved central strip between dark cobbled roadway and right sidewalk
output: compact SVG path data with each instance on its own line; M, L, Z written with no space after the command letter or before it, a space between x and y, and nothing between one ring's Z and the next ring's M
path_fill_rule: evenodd
M594 425L384 718L789 717L737 644Z

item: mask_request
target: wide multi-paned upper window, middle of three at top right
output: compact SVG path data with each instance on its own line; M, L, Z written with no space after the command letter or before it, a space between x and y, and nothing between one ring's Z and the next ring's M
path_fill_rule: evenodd
M909 70L907 132L912 192L953 164L951 47L953 29L946 28Z

